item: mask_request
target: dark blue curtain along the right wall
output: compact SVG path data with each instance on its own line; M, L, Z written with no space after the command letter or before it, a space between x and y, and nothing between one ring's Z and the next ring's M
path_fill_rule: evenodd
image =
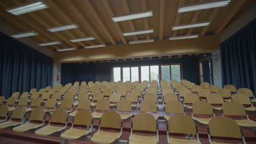
M256 89L256 19L220 44L222 84Z

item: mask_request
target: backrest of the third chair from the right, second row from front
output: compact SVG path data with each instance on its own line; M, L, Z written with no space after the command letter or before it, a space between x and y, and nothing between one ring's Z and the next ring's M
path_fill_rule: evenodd
M166 113L184 113L184 106L181 102L176 100L167 101L165 104Z

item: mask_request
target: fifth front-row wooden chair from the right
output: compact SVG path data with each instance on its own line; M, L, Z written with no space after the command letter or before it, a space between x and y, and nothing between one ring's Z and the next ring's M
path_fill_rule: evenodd
M61 137L66 140L75 140L79 137L88 135L92 131L92 116L91 112L88 110L81 110L78 111L72 122L72 126L70 129L66 130L64 133L61 134ZM82 128L75 128L76 125L90 127L89 129L82 129Z

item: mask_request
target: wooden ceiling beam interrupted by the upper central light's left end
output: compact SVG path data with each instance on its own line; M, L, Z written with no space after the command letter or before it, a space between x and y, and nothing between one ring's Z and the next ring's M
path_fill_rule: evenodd
M101 1L102 1L103 5L105 7L110 19L112 17L114 17L113 11L111 10L110 5L108 4L108 1L107 0L101 0ZM118 35L119 35L120 39L123 41L124 44L127 44L127 41L126 41L126 39L125 39L125 37L124 37L124 35L123 35L119 25L118 25L118 22L113 22L113 25L114 25L115 29L117 29L117 32L118 32Z

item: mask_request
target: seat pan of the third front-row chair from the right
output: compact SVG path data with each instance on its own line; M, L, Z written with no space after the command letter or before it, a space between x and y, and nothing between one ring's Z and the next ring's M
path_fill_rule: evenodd
M135 135L133 134L131 136L131 139L129 141L130 144L135 144L135 143L157 143L156 136L142 136L142 135Z

